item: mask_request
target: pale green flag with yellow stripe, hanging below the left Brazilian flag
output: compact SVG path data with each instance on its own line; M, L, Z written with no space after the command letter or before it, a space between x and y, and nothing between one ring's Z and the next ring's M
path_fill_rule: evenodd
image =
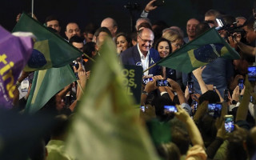
M48 70L38 70L34 72L29 98L26 102L25 112L34 114L40 110L65 86L76 81L73 70L69 65L60 68L50 68Z

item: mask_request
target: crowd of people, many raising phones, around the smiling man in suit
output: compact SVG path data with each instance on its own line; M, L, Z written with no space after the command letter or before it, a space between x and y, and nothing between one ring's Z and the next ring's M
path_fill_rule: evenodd
M76 22L66 25L66 41L86 55L70 64L74 73L78 73L78 82L60 90L38 110L54 113L60 122L52 130L50 138L48 136L43 142L48 151L48 156L44 158L73 159L62 147L65 146L68 117L75 114L82 98L83 93L78 83L86 92L86 82L90 81L90 75L94 74L90 70L97 63L97 58L101 57L104 40L110 37L116 44L117 58L121 64L142 66L143 70L146 70L142 78L152 78L152 81L142 86L140 118L146 124L158 119L159 126L163 123L170 126L171 140L155 144L159 157L191 160L254 159L255 82L249 81L247 76L247 67L254 65L256 54L254 16L234 17L218 10L208 10L203 21L197 18L188 19L187 37L184 37L184 32L179 26L168 26L162 21L152 24L150 19L146 18L151 10L157 8L154 2L155 0L152 0L146 5L142 17L136 22L135 31L130 34L120 32L122 29L118 28L118 22L113 18L103 19L99 28L90 23L83 33ZM190 74L165 66L153 66L210 28L221 27L217 19L222 19L225 24L218 33L240 54L240 59L216 58L214 62L199 67ZM53 29L55 34L60 34L62 28L58 18L49 16L45 24ZM147 70L150 66L153 67ZM22 72L18 82L22 83L27 76L31 85L33 73ZM158 80L161 79L166 80L169 85L157 86ZM240 89L239 79L244 80ZM24 109L29 93L29 90L25 94L20 91L20 99L14 101L14 109ZM220 106L215 110L212 107L217 107L216 104ZM167 110L166 106L174 106L176 111ZM229 122L234 124L227 125L227 115L231 117Z

